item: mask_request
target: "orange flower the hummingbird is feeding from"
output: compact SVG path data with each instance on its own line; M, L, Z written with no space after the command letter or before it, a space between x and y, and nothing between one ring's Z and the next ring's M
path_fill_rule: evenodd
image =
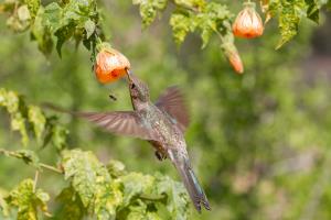
M102 84L119 79L129 68L130 63L127 57L114 48L102 48L96 56L95 75Z

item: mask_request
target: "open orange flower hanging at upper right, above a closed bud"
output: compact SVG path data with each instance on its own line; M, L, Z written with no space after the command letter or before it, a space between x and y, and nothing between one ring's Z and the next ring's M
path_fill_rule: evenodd
M264 25L259 14L255 11L255 3L246 2L244 7L232 26L234 35L244 38L263 35Z

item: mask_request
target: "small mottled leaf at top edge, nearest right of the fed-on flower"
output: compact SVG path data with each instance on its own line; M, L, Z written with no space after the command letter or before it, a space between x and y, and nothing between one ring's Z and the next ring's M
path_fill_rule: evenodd
M167 8L168 0L132 0L132 3L140 4L140 16L143 28L147 28L154 21L158 11Z

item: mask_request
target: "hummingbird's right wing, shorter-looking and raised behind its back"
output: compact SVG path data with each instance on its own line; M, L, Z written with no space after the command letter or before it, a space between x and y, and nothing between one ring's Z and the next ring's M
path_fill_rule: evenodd
M158 99L156 106L166 111L178 123L182 132L186 130L190 123L189 111L184 101L184 97L180 89L175 86L169 87Z

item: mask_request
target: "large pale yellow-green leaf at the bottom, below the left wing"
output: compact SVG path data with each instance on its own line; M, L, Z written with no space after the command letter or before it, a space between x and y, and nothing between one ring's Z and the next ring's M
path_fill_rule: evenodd
M120 185L113 182L107 168L92 152L63 152L65 178L79 195L84 207L90 207L97 219L113 219L122 202Z

